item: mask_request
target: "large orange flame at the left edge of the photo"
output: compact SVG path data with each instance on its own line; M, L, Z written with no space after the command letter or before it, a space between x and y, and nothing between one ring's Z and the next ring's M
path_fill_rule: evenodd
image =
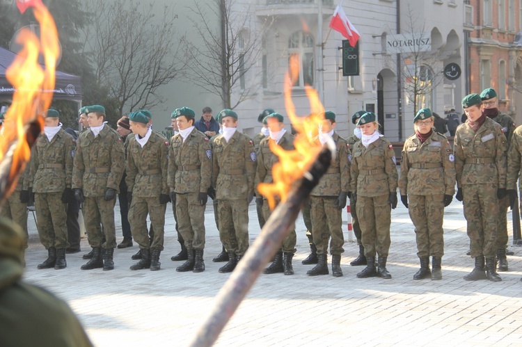
M49 10L42 3L35 3L35 18L40 23L40 40L29 29L21 31L17 42L24 48L8 67L6 76L15 87L13 103L8 108L0 136L0 161L12 145L16 145L13 165L9 172L8 189L12 191L19 172L24 170L31 157L31 147L26 138L26 126L38 122L43 127L42 111L52 102L56 60L58 59L58 33ZM45 58L45 68L38 63L38 56ZM13 131L12 131L13 130Z

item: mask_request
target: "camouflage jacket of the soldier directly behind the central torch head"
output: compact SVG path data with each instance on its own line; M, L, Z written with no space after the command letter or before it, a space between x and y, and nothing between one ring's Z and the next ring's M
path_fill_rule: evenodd
M346 140L333 132L333 142L337 148L335 158L330 168L324 173L310 195L314 196L339 196L341 192L348 193L350 190L350 150ZM315 145L321 146L316 138Z

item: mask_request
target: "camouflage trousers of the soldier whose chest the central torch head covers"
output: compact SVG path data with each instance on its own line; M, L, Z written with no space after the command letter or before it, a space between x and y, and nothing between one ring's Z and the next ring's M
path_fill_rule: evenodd
M345 252L342 246L345 237L342 235L342 211L337 209L337 197L310 196L312 204L310 215L312 217L312 234L318 255L328 254L328 241L330 241L330 254L340 255Z

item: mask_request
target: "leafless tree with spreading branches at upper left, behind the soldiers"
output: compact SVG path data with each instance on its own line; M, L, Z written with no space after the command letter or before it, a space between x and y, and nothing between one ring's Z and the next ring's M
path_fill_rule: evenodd
M152 8L153 3L134 0L86 1L86 10L96 15L84 32L84 51L100 85L120 102L120 114L164 102L157 89L183 67L177 58L175 15L165 6L157 19Z

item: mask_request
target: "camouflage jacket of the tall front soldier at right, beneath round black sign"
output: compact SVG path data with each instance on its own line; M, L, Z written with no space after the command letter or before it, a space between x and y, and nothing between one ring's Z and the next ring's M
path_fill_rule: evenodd
M505 188L506 142L500 125L489 118L476 133L468 121L460 124L453 145L457 186L493 184Z

